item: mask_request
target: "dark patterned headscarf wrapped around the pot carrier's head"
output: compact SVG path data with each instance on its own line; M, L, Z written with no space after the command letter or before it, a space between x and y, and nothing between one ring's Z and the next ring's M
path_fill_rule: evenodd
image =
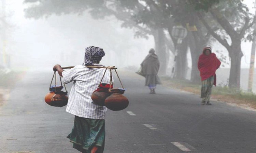
M100 62L101 58L105 56L105 52L99 47L86 47L84 55L84 65L91 66L94 63Z

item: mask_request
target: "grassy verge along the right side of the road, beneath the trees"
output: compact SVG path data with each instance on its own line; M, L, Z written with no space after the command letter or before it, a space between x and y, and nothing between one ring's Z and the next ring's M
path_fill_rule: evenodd
M161 77L162 84L171 88L201 94L201 83L193 83L189 80L178 80ZM234 103L240 106L250 106L256 109L256 95L252 92L231 89L226 86L214 86L211 94L212 99L217 101Z

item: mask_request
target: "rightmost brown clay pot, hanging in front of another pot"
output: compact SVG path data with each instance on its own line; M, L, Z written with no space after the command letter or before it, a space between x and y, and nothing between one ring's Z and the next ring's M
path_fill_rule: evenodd
M122 94L113 93L105 99L105 106L112 111L121 111L129 105L129 100Z

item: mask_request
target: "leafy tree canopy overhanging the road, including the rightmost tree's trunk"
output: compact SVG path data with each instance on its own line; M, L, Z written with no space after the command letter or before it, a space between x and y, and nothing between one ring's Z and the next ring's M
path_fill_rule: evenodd
M30 3L25 15L38 19L52 14L83 14L87 10L94 18L114 15L123 27L134 28L135 36L145 37L157 29L171 29L175 24L196 25L196 50L209 43L210 36L221 43L231 58L229 86L239 88L241 42L252 40L255 16L243 0L25 0ZM175 44L175 41L174 41ZM188 45L188 44L187 44ZM190 49L191 50L191 49ZM193 63L194 65L196 63Z

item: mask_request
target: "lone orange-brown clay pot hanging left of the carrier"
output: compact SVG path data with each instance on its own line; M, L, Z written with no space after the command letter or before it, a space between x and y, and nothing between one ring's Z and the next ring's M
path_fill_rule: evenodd
M44 97L44 101L51 106L63 107L68 104L68 96L66 92L48 92Z

